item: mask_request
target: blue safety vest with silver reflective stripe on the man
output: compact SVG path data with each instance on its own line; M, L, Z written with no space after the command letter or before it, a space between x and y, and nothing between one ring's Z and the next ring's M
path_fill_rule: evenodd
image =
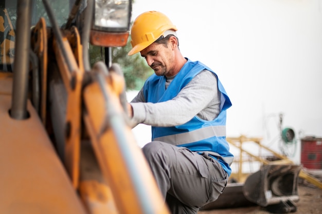
M159 103L173 99L195 75L205 69L216 75L201 62L188 60L167 90L165 76L151 75L143 88L146 102ZM226 109L231 106L231 102L218 77L217 80L218 89L221 92L221 112L216 119L206 121L194 116L189 122L178 126L152 126L152 141L167 142L186 147L191 151L208 153L212 158L217 159L230 175L230 165L234 160L234 155L229 152L229 145L226 141Z

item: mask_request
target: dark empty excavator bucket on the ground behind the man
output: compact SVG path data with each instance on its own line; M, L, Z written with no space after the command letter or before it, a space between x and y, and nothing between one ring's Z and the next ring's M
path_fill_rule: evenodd
M299 165L263 165L245 181L243 193L247 200L265 207L272 213L296 211L299 200Z

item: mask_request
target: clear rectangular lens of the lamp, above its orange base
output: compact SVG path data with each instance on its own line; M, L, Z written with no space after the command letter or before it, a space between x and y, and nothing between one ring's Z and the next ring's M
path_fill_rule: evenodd
M131 0L96 0L94 28L108 31L128 31L131 18Z

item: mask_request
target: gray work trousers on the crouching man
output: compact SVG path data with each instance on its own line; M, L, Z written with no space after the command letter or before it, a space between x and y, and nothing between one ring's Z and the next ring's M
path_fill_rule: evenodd
M216 200L227 184L228 175L217 160L185 147L153 141L142 151L173 214L197 213Z

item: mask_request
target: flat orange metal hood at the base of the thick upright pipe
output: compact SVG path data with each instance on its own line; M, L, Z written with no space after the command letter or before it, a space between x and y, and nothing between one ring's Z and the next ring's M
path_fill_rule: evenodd
M86 213L30 101L29 118L9 116L9 74L0 74L0 213Z

